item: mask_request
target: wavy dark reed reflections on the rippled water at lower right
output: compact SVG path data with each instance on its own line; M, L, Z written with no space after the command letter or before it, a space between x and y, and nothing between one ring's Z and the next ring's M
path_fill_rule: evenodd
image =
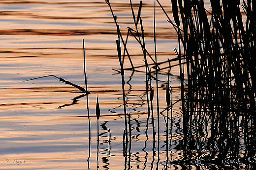
M130 95L132 96L132 91L130 91ZM127 96L126 103L128 103L129 97ZM167 112L169 114L164 117L166 124L166 129L163 130L166 130L164 140L163 135L161 140L155 138L156 131L154 130L153 103L151 100L149 100L151 112L147 113L144 120L141 118L132 119L128 115L128 131L124 131L123 137L124 169L254 170L256 168L255 117L253 112L229 111L224 116L218 112L219 109L222 109L220 106L216 106L215 110L211 111L208 108L209 103L204 103L202 100L190 100L190 104L194 108L193 110L190 109L186 115L187 145L184 145L183 138L183 115L179 111L171 110L172 104L170 104L170 110L164 109L162 111L164 112L163 115L167 115ZM111 164L108 159L111 156L111 137L107 123L108 121L104 121L100 124L104 131L99 134L101 137L108 138L99 144L108 144L108 147L99 152L99 156L104 155L101 160L105 169L109 169ZM152 124L151 135L149 135L150 124ZM141 156L139 150L136 150L135 154L132 153L132 145L134 145L133 141L140 141L142 135L140 136L139 133L143 130L145 131L145 139L143 140L144 147L141 148L143 156ZM135 133L137 135L134 135ZM147 148L149 142L152 142L150 151ZM140 159L143 159L142 164Z

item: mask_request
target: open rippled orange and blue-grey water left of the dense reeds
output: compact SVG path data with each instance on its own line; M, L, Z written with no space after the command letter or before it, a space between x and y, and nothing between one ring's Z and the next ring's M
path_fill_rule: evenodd
M126 34L127 26L134 28L129 1L110 2L121 31ZM133 2L137 14L139 0ZM171 17L170 0L160 2ZM141 16L146 48L154 56L153 1L143 0ZM173 49L178 48L176 33L159 5L156 18L158 61L175 58ZM104 0L0 1L0 169L97 170L97 165L99 170L165 168L165 119L160 115L160 140L154 143L152 121L147 122L143 72L125 71L132 142L128 143L127 156L123 153L122 82L121 75L112 70L120 69L116 32ZM88 96L91 140L84 93L53 76L23 82L55 75L84 87L83 39L88 91L91 92ZM131 36L128 38L128 51L134 66L144 64L140 45ZM126 58L125 68L128 67ZM138 70L144 71L143 68ZM163 70L159 77L160 111L166 108L164 87L167 76L164 73L167 72ZM172 100L175 102L180 98L179 68L172 67L171 73ZM152 83L156 87L154 80ZM98 159L96 96L101 111ZM179 146L183 137L180 108L180 102L173 106L174 125L168 144L168 169L219 169L212 163L203 164L196 159L191 165L177 163L183 159Z

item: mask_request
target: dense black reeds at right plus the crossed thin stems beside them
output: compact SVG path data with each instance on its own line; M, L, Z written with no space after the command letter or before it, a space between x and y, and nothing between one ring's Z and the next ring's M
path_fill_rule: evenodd
M140 17L143 3L140 1L136 17L130 0L134 28L128 27L126 35L127 39L128 35L132 35L140 44L145 62L144 66L136 67L129 57L127 40L124 40L120 32L117 16L114 15L109 0L105 1L110 7L117 26L119 37L117 49L121 66L119 73L122 75L123 93L124 70L128 70L123 68L123 64L125 56L128 56L130 70L135 71L138 67L145 67L148 113L152 114L153 126L154 118L151 110L153 107L150 107L150 103L152 104L154 91L150 83L150 73L155 73L159 125L159 116L162 112L159 110L158 103L158 72L166 69L160 68L159 65L164 62L179 61L183 139L180 141L181 145L177 145L176 148L184 151L184 160L197 158L212 161L212 163L221 160L223 164L234 166L242 162L252 169L255 168L255 161L252 160L256 157L256 2L210 0L211 11L208 11L205 9L204 0L171 0L172 21L159 0L156 0L170 26L176 30L179 40L179 49L174 49L177 57L158 63L155 0L155 59L145 48L143 18ZM123 58L120 42L124 47ZM153 63L148 64L147 58L150 58ZM154 65L155 70L151 71L149 65ZM173 65L169 65L168 68L171 67ZM169 103L170 88L168 78L166 117L172 124L172 115L168 112L172 108L172 103ZM149 92L151 92L150 96ZM125 94L123 97L125 106ZM124 110L126 115L126 108ZM155 127L153 127L153 134L157 133L154 129ZM167 145L168 129L167 121ZM168 154L166 157L168 161Z

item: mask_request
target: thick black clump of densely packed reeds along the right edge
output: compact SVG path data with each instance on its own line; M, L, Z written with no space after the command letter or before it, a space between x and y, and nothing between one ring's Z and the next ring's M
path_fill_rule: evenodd
M212 11L203 0L175 1L173 25L186 63L181 69L184 149L188 156L193 156L189 150L210 150L238 164L245 147L246 162L256 151L256 4L243 1L242 15L240 0L211 0Z

